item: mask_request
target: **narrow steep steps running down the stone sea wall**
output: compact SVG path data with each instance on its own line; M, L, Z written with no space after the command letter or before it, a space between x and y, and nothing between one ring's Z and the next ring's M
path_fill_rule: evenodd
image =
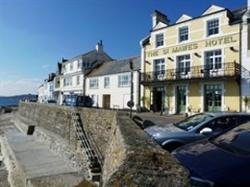
M94 149L94 146L89 141L89 137L84 130L84 126L83 126L79 113L72 111L71 119L75 127L77 138L80 141L80 146L82 150L84 151L83 153L86 154L88 158L89 169L91 173L91 180L95 182L96 184L100 184L101 164L100 164L100 160L98 159L96 150Z

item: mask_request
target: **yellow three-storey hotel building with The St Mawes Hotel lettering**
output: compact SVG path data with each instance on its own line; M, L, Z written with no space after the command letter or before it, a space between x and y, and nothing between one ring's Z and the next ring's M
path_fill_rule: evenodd
M212 5L199 17L184 14L170 24L155 11L141 41L144 106L169 114L241 111L243 94L249 95L249 81L241 77L249 69L246 14L247 8Z

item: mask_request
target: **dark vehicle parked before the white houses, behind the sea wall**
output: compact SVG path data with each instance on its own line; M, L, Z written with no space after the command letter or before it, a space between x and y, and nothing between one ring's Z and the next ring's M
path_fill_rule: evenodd
M63 105L74 107L91 107L93 100L89 96L68 95L64 97Z

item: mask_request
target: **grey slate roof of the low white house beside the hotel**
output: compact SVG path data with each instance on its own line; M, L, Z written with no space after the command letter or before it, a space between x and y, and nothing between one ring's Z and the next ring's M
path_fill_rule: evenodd
M102 75L110 75L117 73L125 73L130 72L130 61L133 62L133 69L140 70L141 68L141 57L130 57L121 60L113 60L109 62L105 62L96 68L94 68L91 72L87 74L88 77L102 76Z

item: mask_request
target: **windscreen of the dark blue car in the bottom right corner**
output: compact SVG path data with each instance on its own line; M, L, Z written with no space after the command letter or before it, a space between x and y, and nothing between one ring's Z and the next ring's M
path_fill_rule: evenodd
M240 125L210 142L230 152L250 155L250 123Z

